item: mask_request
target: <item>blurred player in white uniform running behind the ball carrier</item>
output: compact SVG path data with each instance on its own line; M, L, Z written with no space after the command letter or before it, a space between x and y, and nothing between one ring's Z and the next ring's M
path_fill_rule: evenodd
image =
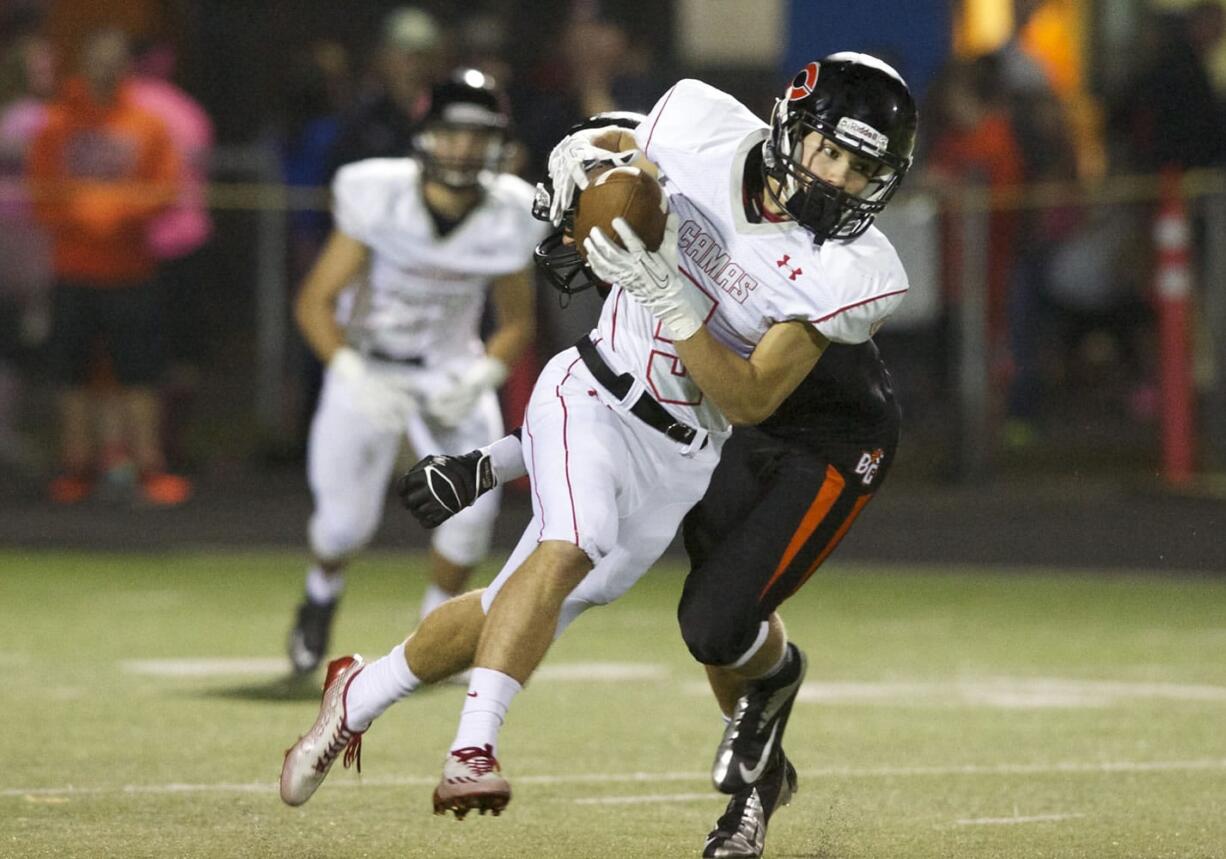
M503 433L495 388L535 333L531 259L543 234L531 187L499 172L506 124L493 82L461 70L434 87L413 157L336 175L336 229L295 305L327 365L308 448L314 561L289 636L297 672L326 652L345 565L379 524L405 435L425 452ZM497 327L483 346L487 294ZM435 535L423 614L463 589L497 511L490 498Z

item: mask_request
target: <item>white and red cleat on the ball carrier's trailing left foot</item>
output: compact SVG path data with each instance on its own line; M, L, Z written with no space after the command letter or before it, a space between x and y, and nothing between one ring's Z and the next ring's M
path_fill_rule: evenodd
M332 768L341 751L345 766L357 762L362 772L362 730L346 727L345 696L353 678L365 668L360 656L346 656L327 664L324 697L315 724L286 750L281 765L281 800L286 805L302 805Z

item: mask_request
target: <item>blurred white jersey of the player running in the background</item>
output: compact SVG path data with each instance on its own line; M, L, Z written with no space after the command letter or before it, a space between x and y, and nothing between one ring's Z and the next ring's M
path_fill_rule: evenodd
M489 282L527 266L547 229L532 217L526 181L498 174L483 184L482 201L440 238L412 158L371 158L337 172L336 227L371 251L367 289L338 303L356 347L427 363L483 352Z

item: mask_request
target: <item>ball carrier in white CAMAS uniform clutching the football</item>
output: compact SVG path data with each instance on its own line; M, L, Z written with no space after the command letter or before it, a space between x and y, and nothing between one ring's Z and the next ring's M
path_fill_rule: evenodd
M813 92L817 66L785 100ZM901 300L902 267L869 228L901 179L889 136L863 123L820 131L787 109L772 126L682 81L633 134L591 129L554 149L555 224L587 170L633 157L669 194L664 244L647 252L624 225L629 250L592 239L592 268L614 288L591 337L557 355L533 391L522 435L532 524L484 592L445 603L369 665L330 665L319 718L286 755L284 801L306 801L394 701L472 664L435 811L501 810L498 730L553 637L660 556L705 490L729 419L770 415L831 339L868 339ZM913 126L902 163L912 142ZM824 241L841 230L855 240Z

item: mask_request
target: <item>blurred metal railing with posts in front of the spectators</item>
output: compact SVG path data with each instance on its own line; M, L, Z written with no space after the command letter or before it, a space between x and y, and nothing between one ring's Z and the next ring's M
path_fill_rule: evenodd
M248 212L255 224L255 265L253 271L254 311L254 414L259 429L275 434L283 420L287 402L287 354L289 327L288 297L288 224L292 212L326 211L327 189L291 187L281 180L277 149L268 143L219 149L211 164L213 180L206 201L216 212ZM1162 179L1155 175L1112 176L1094 184L1041 184L1004 190L981 186L942 189L940 195L924 190L900 192L881 217L886 234L895 244L911 249L908 262L912 292L921 310L900 316L907 325L923 325L926 316L944 299L940 286L944 260L940 241L934 237L942 219L955 218L962 248L958 284L958 305L945 308L956 336L956 379L950 387L956 401L956 460L965 478L980 478L992 471L999 448L998 422L993 420L994 401L991 375L991 349L987 321L988 221L993 212L1040 210L1054 206L1135 206L1159 201ZM0 180L0 202L29 194L29 187L15 180ZM1194 210L1203 228L1194 259L1198 295L1198 322L1208 337L1200 342L1199 439L1204 445L1201 467L1219 468L1226 463L1226 172L1198 170L1182 176L1179 195ZM905 213L905 217L897 217ZM926 290L938 290L933 297ZM1208 352L1205 352L1208 350Z

